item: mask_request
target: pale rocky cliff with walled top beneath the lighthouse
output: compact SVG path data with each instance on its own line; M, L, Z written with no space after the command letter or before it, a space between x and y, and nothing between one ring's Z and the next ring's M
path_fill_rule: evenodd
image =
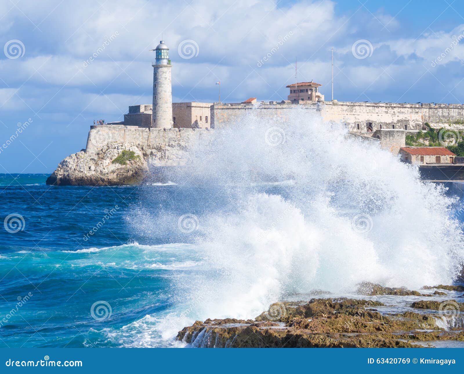
M143 183L149 170L184 165L189 146L202 134L178 129L92 126L85 150L61 161L46 183L55 186L138 185ZM123 157L126 154L132 157Z

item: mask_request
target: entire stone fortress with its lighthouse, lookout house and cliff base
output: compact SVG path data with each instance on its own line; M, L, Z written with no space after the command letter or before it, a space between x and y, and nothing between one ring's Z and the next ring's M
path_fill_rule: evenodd
M242 103L172 103L169 49L164 41L155 48L152 104L134 105L122 122L90 126L86 148L64 159L47 180L48 184L118 185L139 183L149 167L181 166L190 142L211 131L229 126L246 110L283 121L295 105L322 117L323 121L344 123L349 134L368 142L378 142L394 155L402 155L408 132L428 126L464 129L464 105L435 103L358 103L324 101L321 84L290 84L288 99L257 102L252 97ZM115 165L122 150L137 158L127 165ZM449 160L449 158L447 159Z

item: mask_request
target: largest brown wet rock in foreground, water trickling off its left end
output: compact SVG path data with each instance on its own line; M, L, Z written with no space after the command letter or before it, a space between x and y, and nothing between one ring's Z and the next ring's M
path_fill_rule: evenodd
M369 308L382 305L349 298L274 303L255 321L208 319L185 327L179 331L177 339L192 347L410 348L417 347L411 341L437 340L443 333L433 314L381 315L378 310ZM280 315L276 315L276 310ZM443 336L453 339L452 335Z

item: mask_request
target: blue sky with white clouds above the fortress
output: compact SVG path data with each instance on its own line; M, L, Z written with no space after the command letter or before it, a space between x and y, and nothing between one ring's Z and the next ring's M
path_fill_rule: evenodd
M281 101L295 62L330 100L333 48L334 99L464 103L460 0L3 0L0 36L0 173L52 173L94 120L150 104L161 39L173 102L217 81L223 103Z

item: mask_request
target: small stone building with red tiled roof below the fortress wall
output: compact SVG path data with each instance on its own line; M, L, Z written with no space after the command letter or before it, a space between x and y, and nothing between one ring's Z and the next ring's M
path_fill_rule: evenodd
M456 155L444 147L402 147L401 161L414 164L453 163Z

